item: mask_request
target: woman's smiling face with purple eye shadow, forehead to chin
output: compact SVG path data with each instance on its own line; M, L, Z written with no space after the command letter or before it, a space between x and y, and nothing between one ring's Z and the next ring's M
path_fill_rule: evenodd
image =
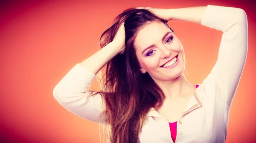
M169 81L185 69L185 55L180 40L162 22L150 22L138 31L134 40L141 72L156 81Z

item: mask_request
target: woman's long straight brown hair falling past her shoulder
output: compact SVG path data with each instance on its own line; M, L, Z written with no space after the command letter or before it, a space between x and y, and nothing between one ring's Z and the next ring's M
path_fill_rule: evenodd
M151 107L159 108L165 98L151 76L140 72L134 39L143 25L153 21L166 24L166 21L154 16L151 11L129 8L119 14L113 25L102 34L101 48L113 41L124 21L125 53L117 54L102 68L103 84L102 90L98 92L102 95L106 108L101 117L105 118L104 129L108 130L104 132L109 143L137 143L149 110Z

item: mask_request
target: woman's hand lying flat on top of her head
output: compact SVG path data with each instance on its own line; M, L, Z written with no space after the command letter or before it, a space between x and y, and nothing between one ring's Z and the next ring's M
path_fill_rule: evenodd
M165 20L166 22L172 20L170 9L164 9L164 8L151 8L151 7L137 7L137 9L148 9L154 13L154 15L162 20Z

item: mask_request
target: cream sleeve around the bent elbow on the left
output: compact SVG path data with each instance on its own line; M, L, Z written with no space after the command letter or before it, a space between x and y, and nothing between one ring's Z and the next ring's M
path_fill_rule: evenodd
M64 108L81 118L99 123L103 111L102 97L87 90L96 77L80 64L76 64L55 86L53 96ZM90 97L89 97L90 96Z

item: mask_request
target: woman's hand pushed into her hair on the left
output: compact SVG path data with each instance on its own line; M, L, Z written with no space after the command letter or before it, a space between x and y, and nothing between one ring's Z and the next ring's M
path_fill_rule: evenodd
M111 43L119 48L120 54L123 54L125 52L125 22L122 22L122 25L118 29Z

